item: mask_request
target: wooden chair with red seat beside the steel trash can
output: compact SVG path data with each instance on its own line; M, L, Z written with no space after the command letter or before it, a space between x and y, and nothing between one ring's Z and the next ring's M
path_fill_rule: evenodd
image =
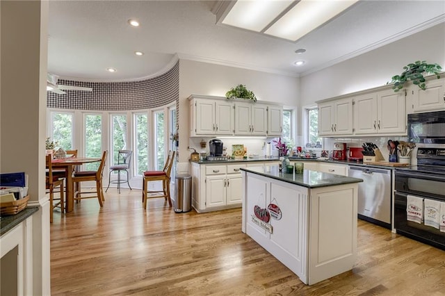
M170 173L172 172L173 161L175 160L175 151L168 151L167 161L163 170L161 171L146 171L144 172L144 179L142 184L142 200L144 208L147 209L147 199L164 197L168 204L172 206L172 199L170 198ZM148 190L148 182L162 181L162 190ZM150 195L161 193L160 195Z

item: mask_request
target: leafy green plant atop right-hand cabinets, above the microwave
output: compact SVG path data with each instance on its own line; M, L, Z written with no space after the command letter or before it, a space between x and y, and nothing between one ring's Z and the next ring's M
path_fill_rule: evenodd
M413 84L418 85L421 90L426 89L426 74L435 74L437 79L440 78L442 67L438 64L428 64L425 60L417 60L414 64L410 63L403 67L404 71L400 75L392 76L391 83L394 83L392 89L394 92L401 90L408 80Z

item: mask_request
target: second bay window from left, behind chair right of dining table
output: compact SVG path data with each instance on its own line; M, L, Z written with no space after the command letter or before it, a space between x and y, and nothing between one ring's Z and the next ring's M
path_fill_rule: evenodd
M102 157L102 115L86 114L84 117L86 157ZM97 170L99 163L87 163L86 170Z

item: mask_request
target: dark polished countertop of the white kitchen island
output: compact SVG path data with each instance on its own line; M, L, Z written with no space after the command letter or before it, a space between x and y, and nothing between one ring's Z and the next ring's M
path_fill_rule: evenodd
M278 165L242 167L241 170L307 188L321 188L363 182L362 179L352 178L350 176L340 176L338 174L329 174L311 170L304 170L302 174L284 174L278 170Z

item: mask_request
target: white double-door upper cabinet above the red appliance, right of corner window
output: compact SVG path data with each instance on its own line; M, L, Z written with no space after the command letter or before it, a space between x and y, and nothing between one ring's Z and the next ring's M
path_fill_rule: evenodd
M353 99L318 104L318 135L353 134Z

